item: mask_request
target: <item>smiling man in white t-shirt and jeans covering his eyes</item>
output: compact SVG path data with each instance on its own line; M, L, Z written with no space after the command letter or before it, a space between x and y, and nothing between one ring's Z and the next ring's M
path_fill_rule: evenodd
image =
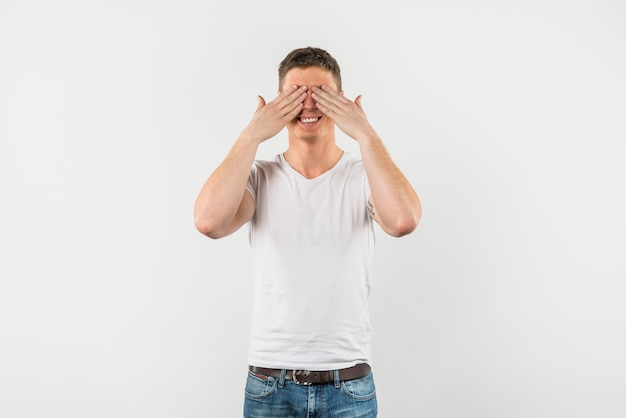
M246 417L375 417L367 306L374 226L400 237L419 222L417 194L344 97L337 61L290 52L278 96L258 107L203 186L195 225L211 238L249 222L254 306ZM359 144L342 151L335 125ZM258 146L287 128L274 161Z

